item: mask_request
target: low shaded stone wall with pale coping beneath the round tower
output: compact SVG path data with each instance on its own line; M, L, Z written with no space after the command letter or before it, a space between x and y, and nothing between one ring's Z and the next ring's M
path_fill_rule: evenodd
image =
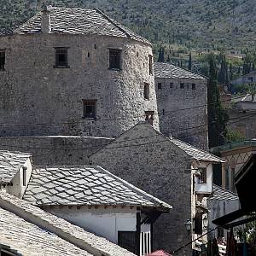
M34 166L86 166L88 155L111 141L104 137L0 137L0 147L32 153Z

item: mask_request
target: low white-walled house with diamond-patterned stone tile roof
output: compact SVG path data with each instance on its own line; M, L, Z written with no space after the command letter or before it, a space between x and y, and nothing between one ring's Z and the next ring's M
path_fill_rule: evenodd
M99 166L35 166L23 199L139 256L172 208Z

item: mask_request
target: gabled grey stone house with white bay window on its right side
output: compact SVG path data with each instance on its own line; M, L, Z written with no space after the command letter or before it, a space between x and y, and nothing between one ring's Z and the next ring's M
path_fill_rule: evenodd
M148 122L125 131L89 159L92 165L100 164L172 204L175 211L166 213L156 222L153 249L172 252L197 238L195 232L202 234L202 214L207 212L205 201L212 194L212 166L224 160L188 143L165 137ZM190 255L191 250L189 244L179 253Z

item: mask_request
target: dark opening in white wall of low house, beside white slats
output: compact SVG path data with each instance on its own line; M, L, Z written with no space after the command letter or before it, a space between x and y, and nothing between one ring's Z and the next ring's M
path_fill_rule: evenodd
M135 231L118 231L118 245L131 253L137 251L137 241Z

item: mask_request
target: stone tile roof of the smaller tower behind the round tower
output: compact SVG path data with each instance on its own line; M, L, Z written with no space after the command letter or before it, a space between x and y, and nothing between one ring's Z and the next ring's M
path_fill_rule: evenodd
M182 67L163 62L154 62L154 77L159 79L207 79Z

